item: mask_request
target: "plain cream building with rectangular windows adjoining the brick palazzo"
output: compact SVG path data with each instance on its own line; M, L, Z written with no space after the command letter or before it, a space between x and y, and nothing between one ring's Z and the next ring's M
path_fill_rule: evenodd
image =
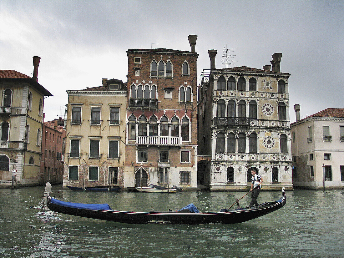
M67 93L63 185L123 187L126 83L103 79Z

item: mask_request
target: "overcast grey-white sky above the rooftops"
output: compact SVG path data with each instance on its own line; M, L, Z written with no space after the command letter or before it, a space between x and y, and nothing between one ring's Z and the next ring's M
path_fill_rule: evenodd
M45 120L64 114L66 90L101 85L102 78L127 82L128 49L164 47L190 51L196 34L198 79L216 68L223 49L235 66L262 69L283 53L290 73L290 119L327 107L344 108L343 1L0 1L0 69L32 76L40 56L39 83Z

